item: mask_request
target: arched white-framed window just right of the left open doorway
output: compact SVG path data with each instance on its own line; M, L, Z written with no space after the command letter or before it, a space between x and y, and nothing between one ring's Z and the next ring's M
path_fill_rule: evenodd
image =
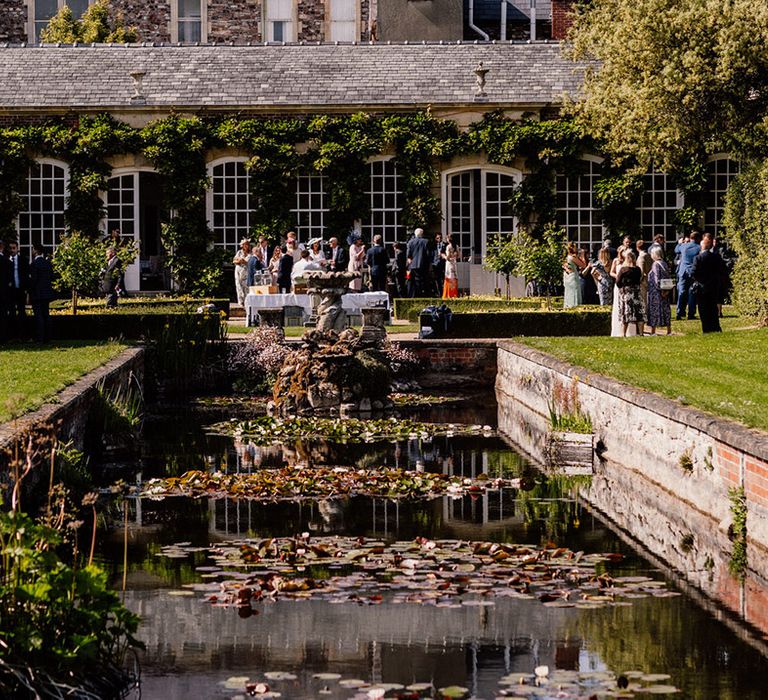
M250 176L244 160L226 160L213 165L209 221L214 245L237 248L251 232Z

